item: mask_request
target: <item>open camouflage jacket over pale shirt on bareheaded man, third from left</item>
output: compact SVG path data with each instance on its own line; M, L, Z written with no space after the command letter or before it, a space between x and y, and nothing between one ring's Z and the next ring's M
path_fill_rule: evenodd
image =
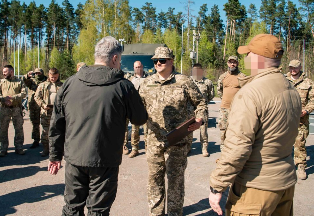
M50 83L51 81L49 78L45 82L40 83L35 93L35 101L41 107L41 113L46 112L44 109L44 105L47 105L49 103L48 86L50 85ZM57 80L57 82L55 82L56 91L58 91L59 88L62 87L62 84L63 82L61 82L59 79Z

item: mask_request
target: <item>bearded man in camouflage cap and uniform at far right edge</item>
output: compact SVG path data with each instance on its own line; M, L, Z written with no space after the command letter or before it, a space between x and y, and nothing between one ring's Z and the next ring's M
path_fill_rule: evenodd
M292 60L289 63L289 72L286 78L295 86L299 92L302 103L302 113L299 126L299 134L295 138L294 161L298 167L299 179L306 179L306 137L309 135L309 114L314 110L314 83L306 78L305 73L301 71L301 62Z

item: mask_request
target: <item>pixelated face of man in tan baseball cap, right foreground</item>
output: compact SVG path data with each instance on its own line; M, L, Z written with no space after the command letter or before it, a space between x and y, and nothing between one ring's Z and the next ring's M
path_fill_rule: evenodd
M265 68L265 57L249 52L244 58L244 68L252 76L257 75L258 69Z

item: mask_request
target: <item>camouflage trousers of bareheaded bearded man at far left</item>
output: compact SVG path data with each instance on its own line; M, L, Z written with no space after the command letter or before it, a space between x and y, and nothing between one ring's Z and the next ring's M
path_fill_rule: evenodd
M0 111L0 142L1 151L7 151L9 146L8 129L12 117L13 127L15 130L14 146L15 149L22 149L24 144L24 119L21 114L21 107L7 108L1 106Z

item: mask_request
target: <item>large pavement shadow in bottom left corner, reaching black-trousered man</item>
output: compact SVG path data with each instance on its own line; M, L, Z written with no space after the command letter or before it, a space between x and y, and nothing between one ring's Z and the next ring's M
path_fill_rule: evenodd
M36 203L62 195L64 187L64 184L41 185L0 196L1 206L5 207L1 209L1 215L16 213L16 209L14 207L23 203ZM51 204L53 206L53 203Z

